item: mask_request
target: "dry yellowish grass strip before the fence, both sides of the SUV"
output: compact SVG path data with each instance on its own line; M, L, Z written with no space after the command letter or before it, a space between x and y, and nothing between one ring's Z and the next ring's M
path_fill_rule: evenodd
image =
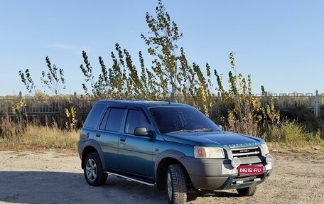
M26 124L10 124L6 120L0 122L2 135L0 149L69 149L76 151L79 139L78 130L62 130L55 124L40 126ZM324 140L319 134L304 131L297 124L289 123L279 130L283 136L280 140L268 141L269 149L274 151L324 152Z

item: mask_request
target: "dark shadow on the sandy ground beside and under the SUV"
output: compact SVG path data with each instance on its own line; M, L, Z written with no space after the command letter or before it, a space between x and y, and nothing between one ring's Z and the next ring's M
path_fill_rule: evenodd
M108 176L104 186L89 186L83 173L48 171L0 171L0 203L167 203L166 191L154 186ZM236 197L236 193L197 191L198 197Z

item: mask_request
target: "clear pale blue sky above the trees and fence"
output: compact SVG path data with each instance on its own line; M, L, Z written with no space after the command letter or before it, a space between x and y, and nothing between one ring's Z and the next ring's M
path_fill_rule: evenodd
M146 12L154 16L158 5L157 0L0 3L0 96L28 94L18 75L26 69L36 90L43 90L46 56L64 70L64 94L84 94L82 50L96 76L99 56L107 67L112 65L115 43L129 51L139 68L139 51L144 60L147 56L140 36L149 31ZM252 76L255 94L261 93L261 85L277 94L324 92L324 1L163 0L163 4L183 33L178 45L190 64L203 69L209 63L226 76L229 53L234 52L237 73ZM216 80L213 83L215 87Z

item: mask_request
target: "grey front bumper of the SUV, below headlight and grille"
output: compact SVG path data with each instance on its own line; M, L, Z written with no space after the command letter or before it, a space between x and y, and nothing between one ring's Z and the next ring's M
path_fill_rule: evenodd
M254 158L255 159L255 158ZM183 163L193 186L202 190L221 190L245 188L263 182L270 176L272 165L264 166L264 173L259 175L239 176L229 159L195 159L185 157ZM259 162L262 163L261 159Z

